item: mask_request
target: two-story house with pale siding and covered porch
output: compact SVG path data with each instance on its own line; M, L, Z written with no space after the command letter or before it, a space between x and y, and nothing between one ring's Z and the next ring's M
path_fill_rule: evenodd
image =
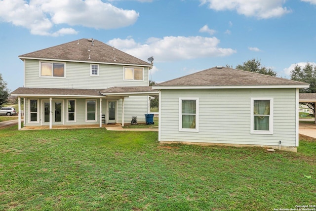
M24 86L18 96L24 127L145 122L152 64L93 39L20 55ZM24 98L24 108L21 108ZM19 112L21 129L21 112Z

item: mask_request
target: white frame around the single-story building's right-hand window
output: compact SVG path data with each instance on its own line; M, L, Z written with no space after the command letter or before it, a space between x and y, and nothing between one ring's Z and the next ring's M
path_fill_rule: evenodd
M255 130L254 129L254 114L253 114L253 106L254 106L254 101L255 100L270 100L270 115L269 116L269 130ZM272 97L251 97L250 98L250 133L251 134L273 134L273 119L274 119L274 115L273 115L273 108L274 105L274 101ZM262 115L260 115L262 116Z

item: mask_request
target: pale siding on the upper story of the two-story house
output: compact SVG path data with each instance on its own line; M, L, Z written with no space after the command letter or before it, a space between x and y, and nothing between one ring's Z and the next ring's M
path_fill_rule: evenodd
M99 76L90 76L90 63L66 62L65 78L40 77L39 60L26 59L25 68L25 87L102 89L148 85L147 67L144 67L143 81L124 81L122 65L99 64Z

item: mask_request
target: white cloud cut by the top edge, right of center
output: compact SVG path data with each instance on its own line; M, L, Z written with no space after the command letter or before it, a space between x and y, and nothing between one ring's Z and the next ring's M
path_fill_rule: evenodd
M260 19L280 17L291 12L283 7L284 0L200 0L214 10L236 10L238 14Z

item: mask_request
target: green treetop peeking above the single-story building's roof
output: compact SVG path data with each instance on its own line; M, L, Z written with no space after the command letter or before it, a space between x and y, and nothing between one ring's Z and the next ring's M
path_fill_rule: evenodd
M242 65L238 64L236 66L236 69L245 70L245 71L249 71L253 73L270 75L270 76L276 76L275 71L273 71L271 68L266 68L264 66L261 66L260 60L257 60L257 59L250 59L242 63Z

